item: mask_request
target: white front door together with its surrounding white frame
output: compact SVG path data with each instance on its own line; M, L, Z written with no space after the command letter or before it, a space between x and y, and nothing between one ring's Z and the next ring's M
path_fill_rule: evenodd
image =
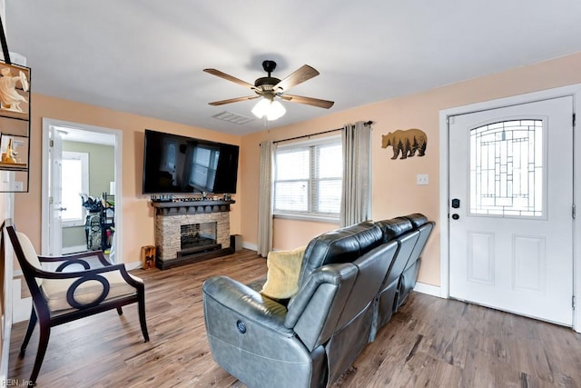
M559 111L561 108L558 105L563 106L563 110ZM527 108L531 110L527 111ZM553 108L557 110L555 117L552 117ZM574 153L574 150L581 147L581 136L576 135L574 129L575 112L580 109L581 85L570 85L440 111L441 297L456 297L572 326L581 332L581 313L575 308L576 300L581 295L581 276L576 275L581 269L581 253L577 244L581 241L581 228L575 215L575 204L581 203L581 158ZM524 117L530 120L517 123ZM514 163L515 155L508 160L506 155L493 154L492 160L498 157L497 160L502 163L484 169L482 165L487 164L486 160L480 160L480 166L476 168L476 159L469 156L470 164L468 168L465 167L464 173L458 175L454 171L459 163L456 158L468 158L470 147L474 148L475 144L492 149L491 144L494 142L524 142L525 139L520 136L522 133L512 131L514 128L510 128L511 124L526 124L528 134L539 136L544 141L538 146L541 149L546 147L545 156L538 154L540 159L537 161L540 164L532 167L532 170L537 169L536 179L541 184L534 193L537 199L533 200L530 196L527 198L530 200L528 204L532 204L527 209L511 208L502 202L508 201L508 197L502 198L503 192L499 192L501 198L496 198L488 190L504 184L505 193L511 191L514 194L511 199L513 204L518 202L518 205L523 205L527 194L510 187L515 184L512 181L523 177L513 174L510 179L506 178L508 169L514 169L515 166L505 162ZM465 137L462 140L456 137L459 127L455 125L464 125ZM505 125L504 131L502 125ZM536 125L538 130L534 129ZM551 133L560 135L551 140ZM486 138L487 134L492 136L492 143L487 143L487 140L491 140ZM534 143L532 138L526 141ZM513 149L513 152L517 151ZM473 149L471 155L477 154ZM495 174L495 168L498 174ZM492 176L489 187L483 184L486 174ZM530 174L535 175L533 172ZM478 187L479 192L473 193L472 186L476 182L480 182L481 186ZM488 207L490 203L495 204L495 201L502 210ZM562 222L553 229L547 225L555 217L560 217ZM476 224L471 224L472 221L476 221ZM531 224L536 226L531 228ZM562 233L558 243L554 237L557 232ZM458 233L463 234L463 237L458 237ZM553 263L557 253L564 258L558 258ZM564 277L557 282L555 274ZM463 279L464 284L458 284L458 278ZM500 286L499 293L498 289L493 292L487 290L489 294L485 293L483 290L492 287L491 284L504 285ZM521 299L518 300L514 293L519 294ZM528 296L524 297L526 294ZM547 296L549 294L552 296ZM486 297L482 298L482 295ZM545 301L538 303L539 306L533 305L538 298L545 298ZM547 306L547 301L551 305ZM553 306L554 303L557 305ZM555 310L551 312L551 309Z

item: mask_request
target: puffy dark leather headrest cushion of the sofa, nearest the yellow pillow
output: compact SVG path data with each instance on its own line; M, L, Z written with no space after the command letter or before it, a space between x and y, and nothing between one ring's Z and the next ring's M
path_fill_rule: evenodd
M370 222L354 224L318 235L310 240L305 250L300 267L299 287L320 266L351 263L362 254L379 246L382 241L381 230Z

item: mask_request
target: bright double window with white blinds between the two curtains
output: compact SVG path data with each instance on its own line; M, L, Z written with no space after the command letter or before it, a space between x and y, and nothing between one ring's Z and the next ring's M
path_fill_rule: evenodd
M275 165L274 214L339 219L343 174L340 136L280 146Z

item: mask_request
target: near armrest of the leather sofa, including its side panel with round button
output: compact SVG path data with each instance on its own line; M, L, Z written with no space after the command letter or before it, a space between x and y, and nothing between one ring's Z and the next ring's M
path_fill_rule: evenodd
M311 351L284 326L286 308L225 276L206 280L203 313L216 363L249 387L322 387L322 346Z

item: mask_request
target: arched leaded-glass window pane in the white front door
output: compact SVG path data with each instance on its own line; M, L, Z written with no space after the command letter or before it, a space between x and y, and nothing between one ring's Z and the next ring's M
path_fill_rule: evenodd
M510 120L470 131L470 213L543 217L543 121Z

